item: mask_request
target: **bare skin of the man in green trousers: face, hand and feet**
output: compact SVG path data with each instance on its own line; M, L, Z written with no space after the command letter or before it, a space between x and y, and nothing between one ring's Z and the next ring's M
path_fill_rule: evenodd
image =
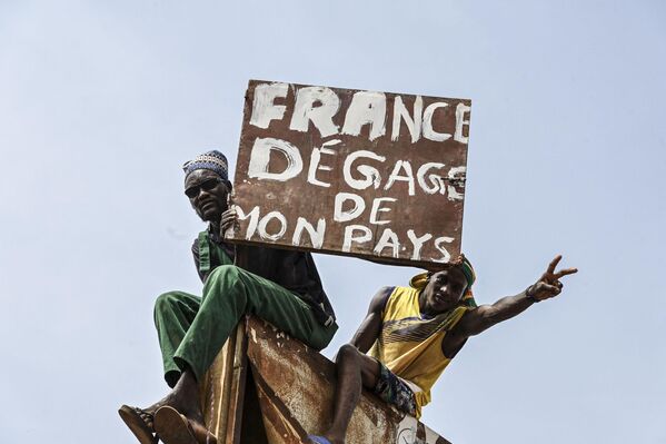
M192 194L192 197L188 196L188 198L197 215L201 220L208 221L213 230L219 233L236 220L236 214L228 205L229 187L216 172L207 169L192 171L185 180L185 189ZM173 389L166 397L142 408L145 412L142 417L150 427L152 427L152 416L161 406L171 406L183 414L199 441L206 441L208 431L200 408L199 385L195 373L189 367L185 368Z

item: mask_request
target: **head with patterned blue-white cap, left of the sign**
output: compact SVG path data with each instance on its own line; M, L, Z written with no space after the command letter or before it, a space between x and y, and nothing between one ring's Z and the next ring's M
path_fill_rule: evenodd
M185 194L201 220L217 223L228 208L231 191L227 158L212 150L197 156L182 166Z

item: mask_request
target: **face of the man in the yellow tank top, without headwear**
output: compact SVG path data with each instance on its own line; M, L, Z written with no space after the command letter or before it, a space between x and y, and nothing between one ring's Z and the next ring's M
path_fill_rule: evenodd
M454 308L467 289L465 274L456 268L447 268L430 276L423 298L428 313L439 314Z

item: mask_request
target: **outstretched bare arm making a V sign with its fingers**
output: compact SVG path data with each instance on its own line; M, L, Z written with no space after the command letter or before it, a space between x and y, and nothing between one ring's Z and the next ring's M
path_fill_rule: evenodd
M516 296L503 297L493 305L481 305L468 312L456 328L459 335L465 338L478 335L491 326L525 312L535 303L559 295L563 288L559 279L578 272L576 268L556 272L555 268L560 259L561 255L556 256L548 265L546 273L525 292Z

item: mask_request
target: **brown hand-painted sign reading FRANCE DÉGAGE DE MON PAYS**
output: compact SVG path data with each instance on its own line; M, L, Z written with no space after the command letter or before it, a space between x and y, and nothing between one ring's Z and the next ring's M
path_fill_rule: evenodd
M242 243L426 266L460 251L470 101L250 80Z

